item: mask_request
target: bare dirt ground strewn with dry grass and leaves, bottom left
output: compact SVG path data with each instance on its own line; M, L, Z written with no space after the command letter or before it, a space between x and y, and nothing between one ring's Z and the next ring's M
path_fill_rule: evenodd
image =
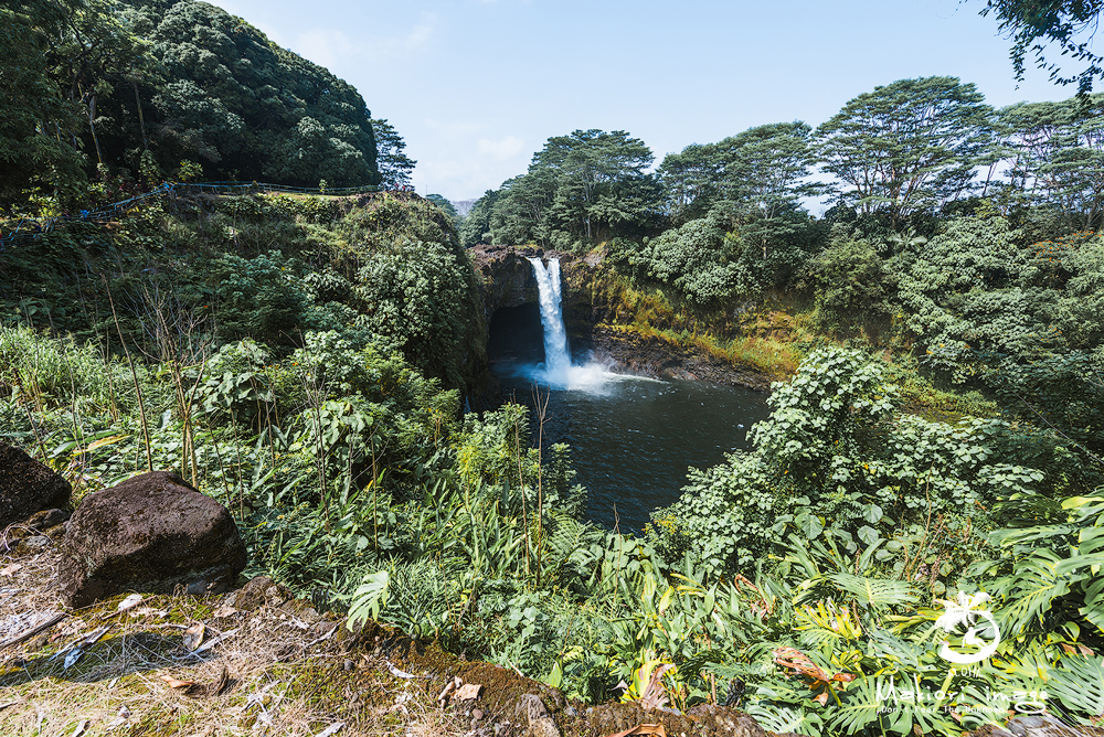
M569 703L374 622L350 631L263 577L223 595L118 595L66 610L57 558L41 536L0 544L6 737L766 734L728 709Z

